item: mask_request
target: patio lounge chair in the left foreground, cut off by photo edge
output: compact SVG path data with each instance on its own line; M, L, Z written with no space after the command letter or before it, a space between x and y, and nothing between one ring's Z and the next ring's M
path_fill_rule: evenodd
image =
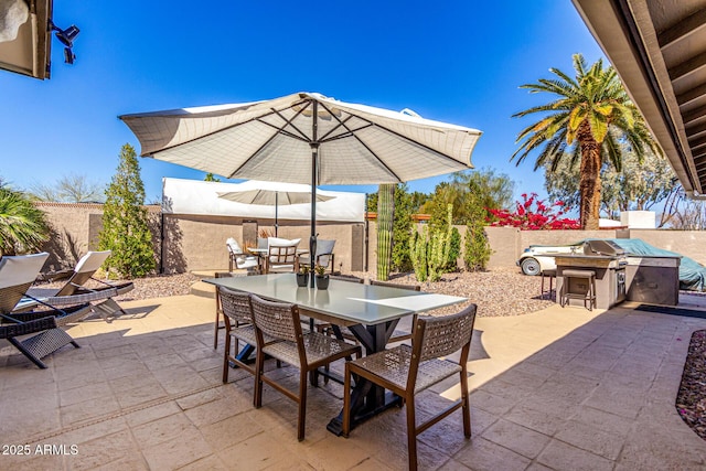
M78 321L90 313L88 303L67 309L53 309L44 302L44 310L13 312L46 261L49 254L3 256L0 258L0 339L6 339L40 368L41 358L64 345L79 345L60 327ZM20 339L21 338L21 339Z

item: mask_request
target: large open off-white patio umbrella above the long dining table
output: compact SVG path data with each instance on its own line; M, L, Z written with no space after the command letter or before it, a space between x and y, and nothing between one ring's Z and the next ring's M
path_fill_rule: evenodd
M477 129L298 93L265 101L119 117L142 157L229 179L400 183L472 168ZM311 254L315 253L315 197ZM312 257L313 263L313 257Z

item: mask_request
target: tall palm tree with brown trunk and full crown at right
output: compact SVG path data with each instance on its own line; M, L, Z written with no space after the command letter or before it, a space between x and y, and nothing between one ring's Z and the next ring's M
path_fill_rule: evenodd
M600 169L610 162L621 171L623 149L642 160L648 149L662 152L650 135L640 111L630 100L612 66L603 68L602 60L587 68L581 54L574 55L576 78L561 71L549 71L558 78L541 78L538 84L523 85L530 93L547 92L558 98L546 105L517 113L523 117L546 114L517 136L520 164L533 150L542 148L534 165L556 170L561 159L571 164L580 160L581 228L597 229L600 210ZM628 146L621 146L627 143Z

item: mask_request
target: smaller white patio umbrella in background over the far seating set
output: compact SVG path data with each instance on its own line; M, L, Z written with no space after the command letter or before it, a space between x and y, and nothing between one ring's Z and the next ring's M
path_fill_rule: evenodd
M242 188L245 186L245 188ZM287 190L278 190L282 188L281 183L263 182L250 180L238 185L238 190L228 192L217 192L218 197L244 204L260 204L265 206L275 206L275 236L278 236L279 216L278 207L280 205L288 206L291 204L311 203L311 186L297 185ZM335 196L327 196L317 194L317 202L333 200Z

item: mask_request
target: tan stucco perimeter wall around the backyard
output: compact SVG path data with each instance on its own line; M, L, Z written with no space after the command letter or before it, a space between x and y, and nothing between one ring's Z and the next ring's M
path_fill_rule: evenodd
M66 204L38 203L47 214L53 227L52 240L45 250L52 256L45 269L73 267L83 254L97 246L97 235L100 231L103 206L99 204ZM246 237L252 237L257 229L274 233L274 221L244 221L234 217L220 216L183 216L164 214L159 207L148 206L150 212L150 228L154 235L156 258L158 267L164 272L183 272L191 270L223 270L227 269L228 257L225 240L235 237L243 243L244 228ZM161 232L163 220L163 232ZM365 267L367 253L367 268L376 270L377 235L376 224L370 223L368 245L365 246L365 224L332 224L317 225L319 238L335 239L335 269L343 272L362 271ZM309 245L310 225L301 221L280 221L279 236L285 238L301 238L300 247ZM420 227L420 226L418 226ZM466 226L458 226L462 237ZM530 245L561 245L585 238L641 238L659 248L673 250L692 257L706 265L706 232L697 231L663 231L663 229L609 229L609 231L518 231L512 227L486 227L493 254L489 261L489 269L499 267L514 267L522 250ZM160 239L163 234L163 250L160 250ZM461 245L463 248L463 245ZM160 265L161 260L161 265ZM463 266L462 256L459 266Z

